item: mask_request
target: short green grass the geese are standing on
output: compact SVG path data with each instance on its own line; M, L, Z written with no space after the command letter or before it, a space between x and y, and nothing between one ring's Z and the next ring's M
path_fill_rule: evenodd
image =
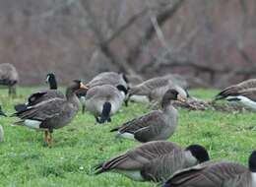
M34 90L34 89L32 89ZM4 110L11 114L13 105L25 100L31 89L20 89L19 98L11 99L0 91ZM216 91L193 91L192 95L211 97ZM148 111L147 106L132 103L112 118L112 123L96 126L89 114L79 113L73 122L54 132L52 149L43 147L43 134L9 124L16 118L0 118L5 142L0 144L0 186L4 187L152 187L151 183L133 182L121 175L106 173L94 176L93 166L111 156L126 152L139 143L120 141L109 130ZM224 158L247 164L255 149L255 114L230 114L216 111L179 110L179 126L169 141L182 146L204 145L212 158Z

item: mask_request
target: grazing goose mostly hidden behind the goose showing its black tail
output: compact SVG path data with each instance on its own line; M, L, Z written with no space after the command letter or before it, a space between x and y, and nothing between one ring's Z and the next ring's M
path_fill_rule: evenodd
M118 74L115 72L103 72L98 74L92 81L87 84L87 87L92 89L94 87L103 85L111 85L113 87L123 86L126 91L129 90L126 76L124 74ZM82 103L82 113L85 113L86 110L86 94L87 92L85 90L79 90L77 92L77 95ZM127 102L125 102L125 104L127 105Z

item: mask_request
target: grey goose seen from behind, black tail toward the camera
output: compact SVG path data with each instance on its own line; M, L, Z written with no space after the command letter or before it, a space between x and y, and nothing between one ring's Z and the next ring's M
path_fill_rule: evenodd
M93 87L86 94L86 107L95 115L97 123L110 122L110 116L119 110L126 93L127 90L122 85L116 88L111 85Z

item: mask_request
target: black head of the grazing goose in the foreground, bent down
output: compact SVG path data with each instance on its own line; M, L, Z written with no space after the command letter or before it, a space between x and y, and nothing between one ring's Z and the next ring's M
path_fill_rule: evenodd
M210 160L207 150L200 145L190 145L185 149L185 152L189 152L194 158L196 158L198 163Z

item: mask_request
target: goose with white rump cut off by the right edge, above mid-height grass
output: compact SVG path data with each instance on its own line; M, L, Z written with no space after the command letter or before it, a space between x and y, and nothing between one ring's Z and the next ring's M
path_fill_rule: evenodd
M224 89L215 97L215 100L220 99L238 101L243 105L256 110L256 79L247 80Z

